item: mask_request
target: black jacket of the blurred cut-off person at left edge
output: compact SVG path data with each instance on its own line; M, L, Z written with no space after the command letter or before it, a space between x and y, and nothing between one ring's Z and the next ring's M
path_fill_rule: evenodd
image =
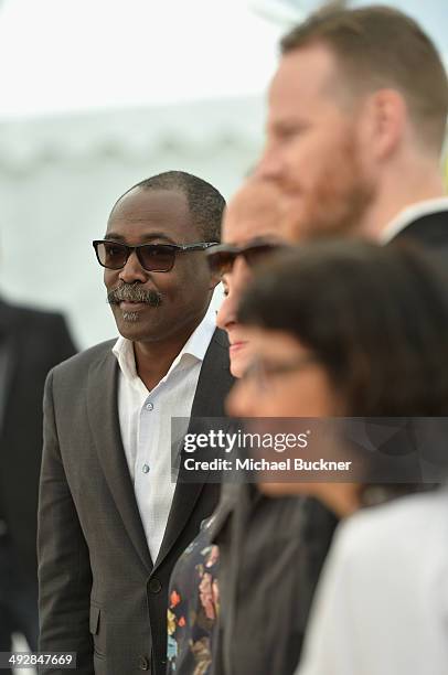
M61 314L0 300L0 519L33 582L44 383L75 352Z

